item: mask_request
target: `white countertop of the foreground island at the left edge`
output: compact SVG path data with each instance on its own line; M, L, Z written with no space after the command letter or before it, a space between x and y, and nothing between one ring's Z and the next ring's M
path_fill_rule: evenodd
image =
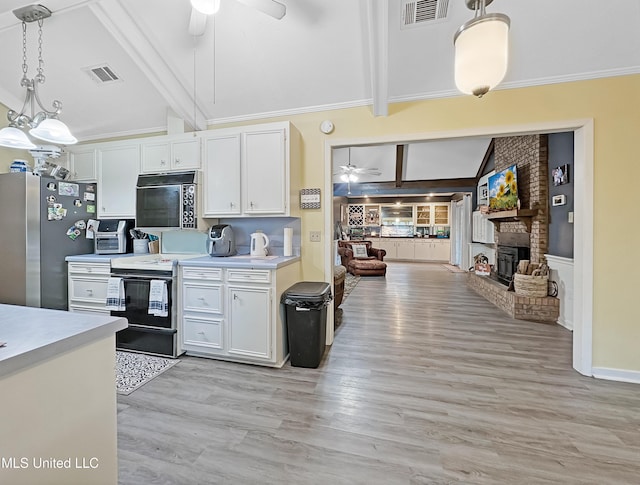
M125 328L125 318L0 304L0 377Z

